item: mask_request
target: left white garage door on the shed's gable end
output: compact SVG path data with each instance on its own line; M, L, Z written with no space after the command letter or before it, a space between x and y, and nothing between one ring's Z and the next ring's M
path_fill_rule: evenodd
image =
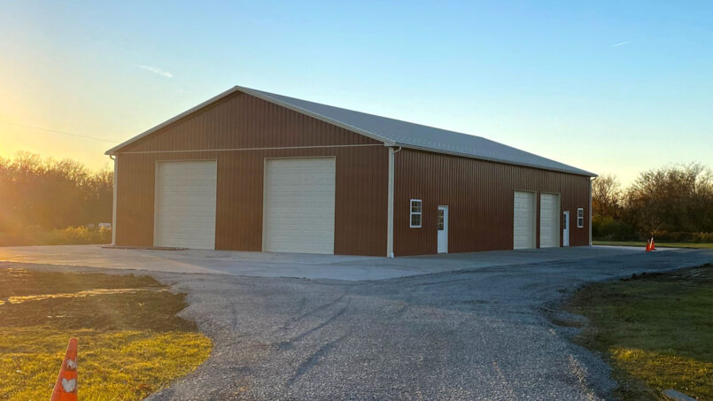
M153 245L215 249L213 161L161 161L156 165Z

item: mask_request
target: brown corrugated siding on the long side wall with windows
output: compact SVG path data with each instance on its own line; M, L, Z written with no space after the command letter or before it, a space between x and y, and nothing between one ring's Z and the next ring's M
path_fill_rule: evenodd
M589 177L408 149L394 155L394 166L397 256L437 252L438 205L448 206L449 252L513 249L515 190L538 192L538 246L542 192L560 194L561 215L570 211L570 246L589 244ZM409 227L410 199L422 199L420 228ZM581 228L578 207L585 209Z

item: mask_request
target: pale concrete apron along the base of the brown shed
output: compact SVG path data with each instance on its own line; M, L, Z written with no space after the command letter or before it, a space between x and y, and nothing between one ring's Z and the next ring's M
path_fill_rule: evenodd
M640 253L631 247L576 247L373 258L242 251L154 251L98 245L0 247L0 261L190 274L382 280L469 268L512 266Z

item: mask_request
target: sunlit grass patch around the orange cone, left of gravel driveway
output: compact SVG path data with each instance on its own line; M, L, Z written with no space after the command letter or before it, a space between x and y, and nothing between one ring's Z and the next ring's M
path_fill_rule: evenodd
M0 399L49 399L70 336L79 399L143 399L210 354L184 307L148 276L0 269Z

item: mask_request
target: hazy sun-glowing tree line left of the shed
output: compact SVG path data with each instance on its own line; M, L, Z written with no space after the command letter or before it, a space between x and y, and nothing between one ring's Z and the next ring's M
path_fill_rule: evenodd
M0 233L112 221L113 172L20 152L0 158Z

